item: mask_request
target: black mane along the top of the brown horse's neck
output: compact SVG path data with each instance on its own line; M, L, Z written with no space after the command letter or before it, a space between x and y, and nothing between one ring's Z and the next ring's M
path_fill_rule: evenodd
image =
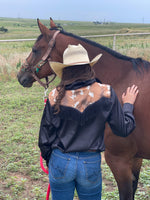
M56 28L55 29L50 29L50 30L56 30ZM132 63L132 65L133 65L133 69L136 70L136 71L139 71L139 72L143 71L142 70L143 67L146 70L148 70L148 68L150 67L150 63L148 61L146 61L146 60L143 60L142 58L132 58L132 57L129 57L129 56L125 56L125 55L122 55L121 53L118 53L118 52L116 52L116 51L114 51L114 50L112 50L112 49L110 49L110 48L108 48L106 46L103 46L103 45L101 45L99 43L96 43L96 42L94 42L92 40L83 38L81 36L74 35L72 33L68 33L68 32L66 32L64 30L61 30L60 32L62 34L64 34L64 35L76 38L78 40L81 40L81 41L84 41L86 43L89 43L89 44L91 44L91 45L93 45L95 47L103 49L104 51L106 51L107 53L111 54L112 56L114 56L114 57L116 57L118 59L125 60L125 61L130 61Z

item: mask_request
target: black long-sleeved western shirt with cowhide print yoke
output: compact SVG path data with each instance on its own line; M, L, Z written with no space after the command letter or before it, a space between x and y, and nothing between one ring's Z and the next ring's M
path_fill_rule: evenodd
M54 89L49 94L39 132L39 147L47 164L55 148L62 152L104 151L106 122L121 137L135 128L133 105L126 103L122 108L109 85L91 80L67 86L58 114L54 112L56 96Z

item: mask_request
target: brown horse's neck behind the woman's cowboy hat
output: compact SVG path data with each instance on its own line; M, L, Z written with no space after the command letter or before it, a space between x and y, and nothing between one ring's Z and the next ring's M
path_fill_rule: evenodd
M132 70L132 63L122 59L118 59L115 56L108 53L106 50L101 49L98 46L94 46L79 38L73 38L71 36L64 37L60 34L59 37L59 56L58 61L62 62L63 51L68 47L69 44L78 45L81 44L86 48L89 54L90 60L95 56L102 53L102 57L98 63L94 66L96 77L99 78L103 83L115 86L120 84L123 79L125 79Z

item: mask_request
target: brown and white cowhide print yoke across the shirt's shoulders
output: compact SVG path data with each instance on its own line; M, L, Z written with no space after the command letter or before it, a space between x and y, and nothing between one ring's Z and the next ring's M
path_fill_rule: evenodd
M52 106L56 102L57 95L56 88L49 94L49 101ZM110 98L110 95L110 85L96 82L76 90L66 90L65 96L61 100L61 105L69 106L83 112L90 104L95 103L101 97Z

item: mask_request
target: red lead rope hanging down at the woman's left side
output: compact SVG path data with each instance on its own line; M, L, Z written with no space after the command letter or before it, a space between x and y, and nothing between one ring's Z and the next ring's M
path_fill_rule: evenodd
M46 105L46 102L47 102L47 91L48 89L45 89L44 91L44 106ZM43 158L40 154L40 166L41 166L41 169L43 170L43 172L45 172L46 174L48 174L48 170L45 169L44 165L43 165ZM47 194L46 194L46 200L49 200L49 195L50 195L50 191L51 191L51 188L50 188L50 184L48 184L48 188L47 188Z

